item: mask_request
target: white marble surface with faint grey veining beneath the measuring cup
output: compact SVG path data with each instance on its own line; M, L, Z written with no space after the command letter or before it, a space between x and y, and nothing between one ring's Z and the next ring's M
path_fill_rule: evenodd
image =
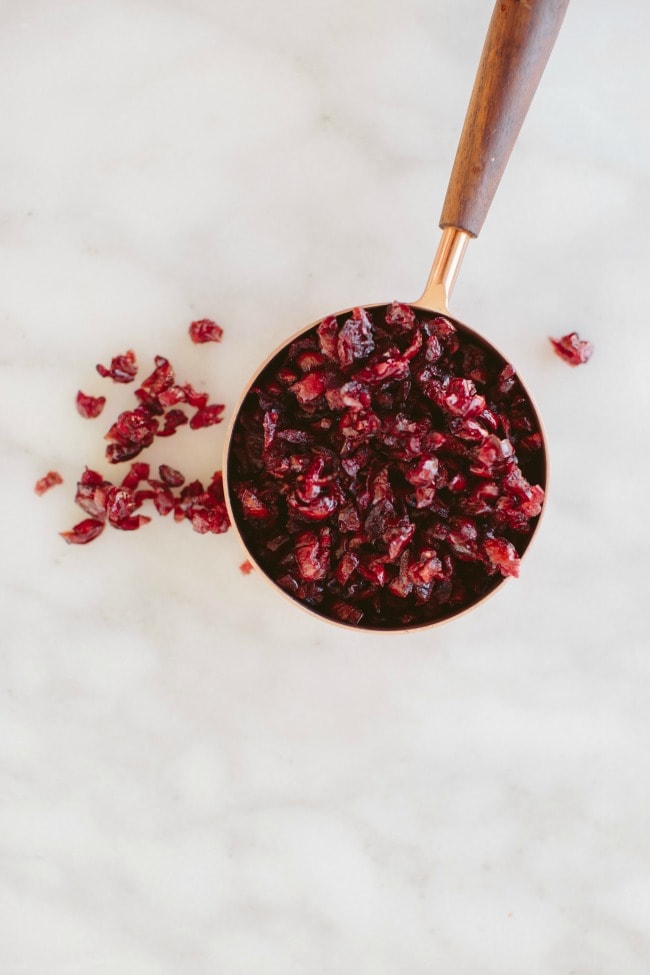
M517 583L377 638L232 535L57 535L95 362L232 404L301 325L420 293L490 9L0 5L1 975L650 971L647 4L573 0L452 302L548 428ZM202 476L222 439L159 453Z

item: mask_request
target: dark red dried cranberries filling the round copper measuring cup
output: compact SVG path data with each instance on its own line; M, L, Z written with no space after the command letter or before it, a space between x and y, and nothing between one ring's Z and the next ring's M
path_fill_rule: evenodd
M390 629L455 615L516 576L545 475L512 366L395 302L326 318L271 361L237 415L228 482L278 586Z

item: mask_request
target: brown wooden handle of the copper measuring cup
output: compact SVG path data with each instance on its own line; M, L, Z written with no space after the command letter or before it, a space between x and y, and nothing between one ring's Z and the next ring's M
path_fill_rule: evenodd
M497 0L458 144L441 227L477 237L569 0Z

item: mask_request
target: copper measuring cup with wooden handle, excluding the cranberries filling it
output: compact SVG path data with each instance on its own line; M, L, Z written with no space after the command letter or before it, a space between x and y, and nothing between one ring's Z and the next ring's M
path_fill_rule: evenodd
M508 359L495 347L475 332L449 315L448 301L456 280L463 255L469 240L477 237L489 210L494 194L505 170L510 153L519 134L538 82L562 24L569 0L497 0L488 28L474 88L471 94L463 131L454 161L446 198L442 208L440 227L442 237L435 255L431 273L422 296L411 307L448 318L459 332L469 336L494 354L503 364ZM374 310L385 305L364 305ZM349 314L352 309L337 312L335 317ZM311 615L326 619L339 626L350 627L318 607L306 605L290 596L277 585L264 571L254 550L254 532L242 524L232 490L236 475L233 436L237 430L242 407L263 371L298 337L314 330L322 321L319 319L306 328L293 334L287 342L275 349L256 370L240 398L231 420L224 448L224 488L226 503L233 528L243 545L247 557L263 576L273 584L278 592L299 605ZM519 378L519 377L518 377ZM538 464L538 483L546 487L548 456L543 427L537 410L521 379L522 390L527 396L530 409L542 433L543 444ZM520 555L528 548L539 525L533 526L531 534L521 543ZM487 596L499 588L505 579L495 578L491 587L466 605L451 609L448 613L433 620L409 625L357 624L355 629L409 631L422 627L435 626L455 618L469 609L475 608Z

